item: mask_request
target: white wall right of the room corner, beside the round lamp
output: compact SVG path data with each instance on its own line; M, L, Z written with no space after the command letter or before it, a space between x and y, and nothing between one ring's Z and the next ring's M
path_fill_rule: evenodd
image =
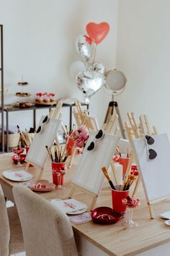
M169 0L119 1L117 67L128 82L117 101L124 120L127 111L148 114L170 135L169 9Z

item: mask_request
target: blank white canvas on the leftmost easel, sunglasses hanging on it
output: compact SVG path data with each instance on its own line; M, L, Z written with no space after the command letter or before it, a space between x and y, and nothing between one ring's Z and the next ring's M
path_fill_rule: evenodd
M45 116L42 116L38 127L40 124L42 124L42 120L44 118ZM29 161L32 164L36 164L40 168L45 166L45 163L48 159L48 152L45 148L45 145L48 145L50 148L53 146L53 142L57 137L58 128L61 125L61 120L50 118L48 123L44 125L44 132L35 133L26 158L26 161Z

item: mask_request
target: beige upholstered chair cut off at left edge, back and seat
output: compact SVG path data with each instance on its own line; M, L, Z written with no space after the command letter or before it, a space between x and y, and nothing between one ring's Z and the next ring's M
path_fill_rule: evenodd
M24 252L24 243L17 207L6 208L0 185L0 256L14 255L19 252Z

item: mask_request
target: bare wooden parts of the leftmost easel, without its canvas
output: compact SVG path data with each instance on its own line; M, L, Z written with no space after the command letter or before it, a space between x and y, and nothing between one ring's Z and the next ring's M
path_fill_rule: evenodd
M61 107L62 107L62 105L63 105L63 102L62 102L62 101L58 101L58 104L57 104L57 106L55 107L55 109L52 110L52 111L50 111L49 116L50 116L52 119L60 119L60 117L61 117ZM57 143L58 143L58 141L57 141ZM48 159L47 159L47 161L48 161ZM47 162L47 161L46 161L46 162ZM46 162L45 162L45 164L46 164ZM26 166L25 166L25 171L28 170L30 164L32 164L33 166L35 166L35 167L37 167L37 168L40 168L40 174L39 174L39 176L37 177L37 179L41 179L42 171L43 171L43 169L44 169L44 167L45 167L45 164L44 164L44 166L39 166L39 165L37 165L37 163L35 163L34 161L27 160L27 164L26 164Z

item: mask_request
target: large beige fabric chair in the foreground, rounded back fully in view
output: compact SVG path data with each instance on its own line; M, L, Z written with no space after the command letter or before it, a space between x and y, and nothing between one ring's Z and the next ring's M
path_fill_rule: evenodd
M77 256L68 216L26 187L13 188L27 256Z

